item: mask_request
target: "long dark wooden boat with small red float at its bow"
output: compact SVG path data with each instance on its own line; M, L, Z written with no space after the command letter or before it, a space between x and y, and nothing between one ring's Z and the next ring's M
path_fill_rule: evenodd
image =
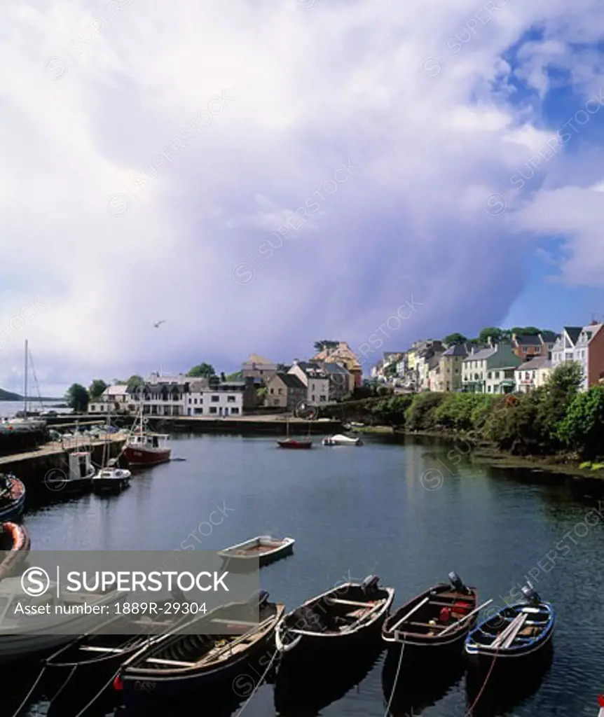
M268 597L260 591L247 603L217 607L189 622L187 634L179 630L126 660L114 683L126 708L138 711L184 693L232 688L247 665L275 651L275 628L285 606L269 602Z

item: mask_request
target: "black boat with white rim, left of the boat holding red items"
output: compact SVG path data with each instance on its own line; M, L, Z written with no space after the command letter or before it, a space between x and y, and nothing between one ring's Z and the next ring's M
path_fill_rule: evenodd
M369 575L313 597L290 612L277 628L281 663L331 660L359 645L379 641L395 590Z

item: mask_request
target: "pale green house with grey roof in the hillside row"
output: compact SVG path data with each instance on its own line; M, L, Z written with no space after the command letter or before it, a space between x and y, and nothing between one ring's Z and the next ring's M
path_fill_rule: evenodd
M516 381L514 370L522 364L510 343L473 350L462 361L462 389L476 394L510 394Z

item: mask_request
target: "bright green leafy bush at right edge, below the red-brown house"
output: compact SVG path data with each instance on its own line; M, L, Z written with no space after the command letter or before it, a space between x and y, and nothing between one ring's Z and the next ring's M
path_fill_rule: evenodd
M604 387L592 386L577 394L558 424L562 443L589 460L603 453Z

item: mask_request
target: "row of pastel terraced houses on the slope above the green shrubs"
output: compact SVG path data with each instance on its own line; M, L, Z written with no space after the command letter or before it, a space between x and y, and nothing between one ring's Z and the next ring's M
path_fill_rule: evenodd
M408 351L384 353L372 377L400 391L526 392L542 386L556 366L576 361L584 389L604 382L604 324L565 326L562 333L512 334L486 346L416 341Z

